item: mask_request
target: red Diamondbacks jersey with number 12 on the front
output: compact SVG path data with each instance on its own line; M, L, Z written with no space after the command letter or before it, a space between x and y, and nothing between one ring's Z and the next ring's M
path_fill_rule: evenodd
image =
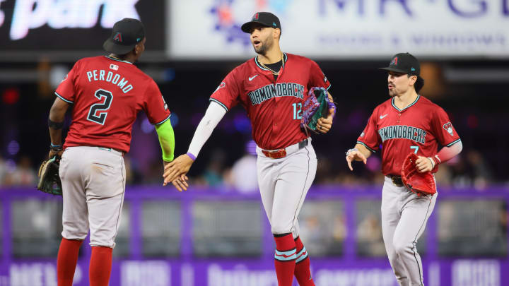
M283 61L277 80L259 64L258 56L246 61L228 73L210 99L226 110L240 103L251 120L254 142L266 150L303 141L307 136L300 119L308 90L330 88L315 61L286 53Z

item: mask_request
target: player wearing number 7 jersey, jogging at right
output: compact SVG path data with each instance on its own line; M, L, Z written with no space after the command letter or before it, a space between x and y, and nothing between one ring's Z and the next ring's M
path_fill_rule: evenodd
M445 111L419 95L424 81L419 61L409 53L396 54L382 68L387 77L390 99L375 108L355 148L346 152L351 170L353 160L366 163L371 153L382 149L382 235L387 256L399 285L423 285L421 256L417 239L433 212L438 193L418 196L402 184L404 158L419 156L419 172L436 172L438 165L462 150L460 137ZM438 145L443 148L438 150Z

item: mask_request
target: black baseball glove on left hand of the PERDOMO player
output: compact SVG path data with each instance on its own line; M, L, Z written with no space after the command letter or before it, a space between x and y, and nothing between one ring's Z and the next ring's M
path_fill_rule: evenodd
M62 196L62 181L59 177L60 157L54 155L39 167L37 189L52 195Z

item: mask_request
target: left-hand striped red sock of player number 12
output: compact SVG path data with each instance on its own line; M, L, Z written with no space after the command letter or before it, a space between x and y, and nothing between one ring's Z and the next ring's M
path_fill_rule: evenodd
M276 275L279 286L291 286L295 270L296 244L292 234L274 234L276 240Z

